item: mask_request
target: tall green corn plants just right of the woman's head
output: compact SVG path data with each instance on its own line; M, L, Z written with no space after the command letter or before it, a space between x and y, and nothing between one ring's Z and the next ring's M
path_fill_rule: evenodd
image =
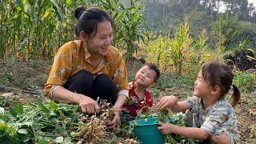
M114 46L125 51L126 60L131 58L138 50L136 42L144 42L142 26L147 25L142 15L142 4L134 0L130 0L127 6L119 0L92 0L92 3L107 10L114 18Z

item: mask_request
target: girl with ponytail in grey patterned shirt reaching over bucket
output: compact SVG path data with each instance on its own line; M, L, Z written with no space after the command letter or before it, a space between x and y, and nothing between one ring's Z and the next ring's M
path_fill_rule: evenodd
M238 143L237 120L232 106L240 100L237 86L232 85L234 74L226 64L210 62L202 66L194 82L194 97L178 102L174 96L160 99L160 110L186 111L184 122L188 127L159 122L162 134L180 134L186 138L209 140L212 143ZM232 106L225 94L233 86Z

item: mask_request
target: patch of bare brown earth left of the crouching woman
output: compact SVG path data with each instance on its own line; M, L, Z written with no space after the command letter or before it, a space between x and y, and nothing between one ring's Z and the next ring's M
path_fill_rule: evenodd
M21 103L38 101L50 72L50 64L47 63L0 61L0 97L8 95L6 98L14 98Z

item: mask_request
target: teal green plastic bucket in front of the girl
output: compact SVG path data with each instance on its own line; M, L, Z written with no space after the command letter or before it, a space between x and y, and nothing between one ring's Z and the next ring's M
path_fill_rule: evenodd
M134 135L142 144L164 143L165 138L158 130L158 118L145 118L134 121Z

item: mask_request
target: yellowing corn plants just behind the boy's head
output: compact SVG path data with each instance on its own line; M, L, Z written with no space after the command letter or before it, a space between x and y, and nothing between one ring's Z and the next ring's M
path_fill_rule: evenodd
M170 32L168 32L149 42L147 61L157 63L163 71L174 70L176 74L181 75L182 67L190 66L193 54L189 29L188 22L185 22L174 34L174 38L170 38Z

